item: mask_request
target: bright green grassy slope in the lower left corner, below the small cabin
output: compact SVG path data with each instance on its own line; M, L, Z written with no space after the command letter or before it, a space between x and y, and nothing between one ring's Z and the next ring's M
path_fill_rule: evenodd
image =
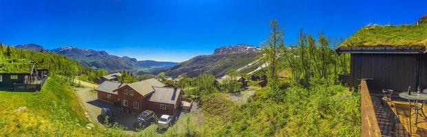
M87 132L84 126L89 121L66 83L50 77L41 92L0 91L0 135L77 136Z

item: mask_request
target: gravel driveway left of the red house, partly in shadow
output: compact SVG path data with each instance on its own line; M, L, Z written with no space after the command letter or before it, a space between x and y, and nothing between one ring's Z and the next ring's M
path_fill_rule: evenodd
M90 115L92 121L104 123L104 119L100 115L101 108L110 108L114 114L114 122L122 125L123 127L126 127L127 132L136 131L133 125L134 121L138 117L136 114L122 112L121 110L118 110L118 108L112 103L107 103L97 99L97 94L94 92L94 90L92 90L92 88L74 88L74 90L76 90L77 95L81 99L81 102L86 108L87 113Z

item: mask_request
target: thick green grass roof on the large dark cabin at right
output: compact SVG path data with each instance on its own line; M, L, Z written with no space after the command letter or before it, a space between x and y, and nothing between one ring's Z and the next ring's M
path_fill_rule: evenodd
M427 25L367 26L344 40L342 47L426 48Z

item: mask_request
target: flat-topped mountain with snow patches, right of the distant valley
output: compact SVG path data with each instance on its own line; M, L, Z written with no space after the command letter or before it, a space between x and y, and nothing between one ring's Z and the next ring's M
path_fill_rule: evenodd
M166 75L178 77L181 74L186 74L187 77L197 77L202 73L209 73L216 77L221 77L229 69L238 70L241 73L249 73L262 65L261 62L252 64L258 60L261 55L260 51L260 48L251 45L220 47L215 49L211 55L198 55L167 69Z

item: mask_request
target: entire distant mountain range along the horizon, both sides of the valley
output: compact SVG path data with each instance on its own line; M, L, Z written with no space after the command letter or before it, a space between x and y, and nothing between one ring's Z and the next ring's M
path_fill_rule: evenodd
M186 74L188 77L197 77L202 73L210 73L220 77L225 75L229 69L249 73L261 65L260 63L253 64L254 61L258 60L261 49L243 44L220 47L215 49L211 55L198 55L180 63L136 60L127 56L110 55L106 51L72 46L52 50L44 49L41 45L36 44L17 45L15 47L62 54L94 69L107 69L110 72L126 70L154 74L163 71L169 77L178 77L182 74ZM248 64L250 64L250 67L247 67Z

